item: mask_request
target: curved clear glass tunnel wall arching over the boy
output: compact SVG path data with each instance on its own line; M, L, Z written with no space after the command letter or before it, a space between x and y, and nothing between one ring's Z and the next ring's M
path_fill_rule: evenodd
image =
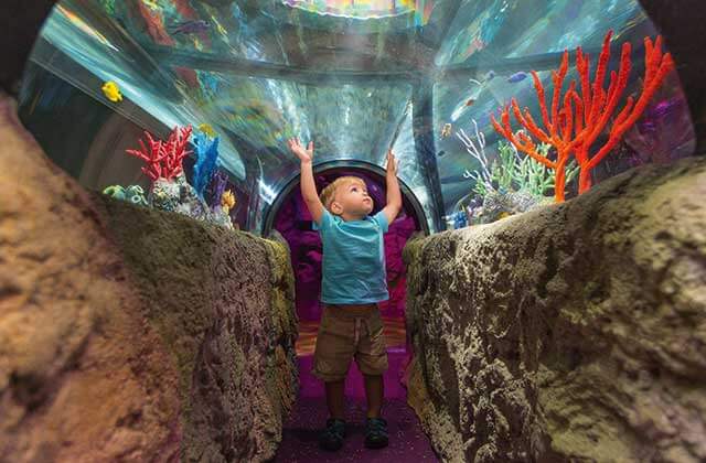
M477 200L482 165L464 139L492 164L501 137L490 115L512 98L538 115L530 72L550 96L561 52L580 45L595 64L608 30L608 69L630 42L623 100L639 96L643 37L657 32L637 1L64 0L31 56L21 116L50 157L95 190L148 186L125 154L142 130L165 138L175 126L207 125L237 196L232 214L256 233L298 175L287 138L313 140L317 164L384 166L393 148L400 179L439 232ZM574 63L571 54L565 88L577 78ZM104 95L108 80L122 101ZM63 138L50 134L53 116L63 117ZM694 147L672 73L593 182ZM567 197L576 189L569 183Z

